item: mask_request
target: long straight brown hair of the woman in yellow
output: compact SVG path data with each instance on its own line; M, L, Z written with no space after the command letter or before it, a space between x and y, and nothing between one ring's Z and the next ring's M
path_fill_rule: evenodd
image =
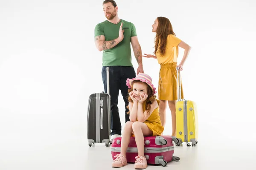
M157 21L158 21L158 26L157 26L157 35L155 37L154 54L156 55L157 51L160 51L161 56L163 56L165 54L168 35L169 34L175 35L175 33L173 32L172 24L168 18L157 17Z

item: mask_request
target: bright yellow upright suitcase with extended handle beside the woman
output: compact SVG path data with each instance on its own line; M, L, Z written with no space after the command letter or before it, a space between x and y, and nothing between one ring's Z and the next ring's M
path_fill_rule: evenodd
M181 99L180 73L177 67L177 94L176 103L176 138L179 140L176 146L186 142L192 147L198 143L198 112L197 105L191 100Z

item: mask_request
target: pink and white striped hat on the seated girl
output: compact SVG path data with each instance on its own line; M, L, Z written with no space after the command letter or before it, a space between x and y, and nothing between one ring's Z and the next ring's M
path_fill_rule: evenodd
M154 88L154 85L152 84L152 79L150 76L148 76L148 74L140 73L133 79L127 79L126 85L128 86L128 88L131 88L132 82L134 80L140 80L141 82L147 83L151 87L153 95L157 93L156 88Z

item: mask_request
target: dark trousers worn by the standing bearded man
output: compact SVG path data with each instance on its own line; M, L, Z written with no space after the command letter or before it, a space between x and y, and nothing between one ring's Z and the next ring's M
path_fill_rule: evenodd
M128 87L126 86L127 78L132 79L136 77L133 67L130 66L108 66L109 67L109 94L111 96L111 135L121 135L122 126L118 111L118 96L119 90L125 101L125 122L130 121L127 114L128 108ZM105 93L107 92L107 66L102 67L102 81L104 84Z

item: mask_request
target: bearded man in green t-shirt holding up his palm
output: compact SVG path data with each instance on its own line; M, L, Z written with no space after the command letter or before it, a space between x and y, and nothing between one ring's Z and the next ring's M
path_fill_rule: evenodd
M139 65L137 74L144 73L142 64L141 47L137 38L136 28L133 23L119 19L118 7L114 0L103 2L103 11L107 20L98 23L94 30L95 45L102 56L102 81L105 92L107 91L106 68L109 67L109 82L111 96L111 136L113 139L121 136L121 122L118 111L119 90L125 101L125 122L130 121L128 112L128 87L127 78L136 77L131 63L131 45L134 56ZM131 43L131 44L130 44ZM112 140L111 139L111 142Z

